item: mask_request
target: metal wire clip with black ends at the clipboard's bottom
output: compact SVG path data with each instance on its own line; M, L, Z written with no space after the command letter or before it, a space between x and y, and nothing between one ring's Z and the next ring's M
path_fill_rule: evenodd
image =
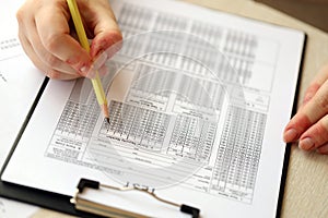
M110 190L117 190L117 191L124 191L124 192L125 191L139 191L139 192L143 192L143 193L151 195L153 198L155 198L162 203L169 204L175 207L179 207L181 213L189 214L189 215L191 215L192 218L199 218L199 214L200 214L200 209L198 209L196 207L191 207L191 206L188 206L185 204L177 204L177 203L174 203L174 202L171 202L171 201L167 201L167 199L164 199L164 198L157 196L155 194L154 189L141 187L138 185L129 186L129 183L126 186L118 187L118 186L112 186L112 185L107 185L107 184L101 184L97 181L89 180L89 179L84 179L84 178L80 179L80 182L77 186L77 193L73 196L73 198L71 198L71 201L70 201L72 204L75 205L75 208L77 208L77 205L79 202L78 201L79 194L81 194L85 187L95 189L95 190L98 190L99 187L104 187L104 189L110 189Z

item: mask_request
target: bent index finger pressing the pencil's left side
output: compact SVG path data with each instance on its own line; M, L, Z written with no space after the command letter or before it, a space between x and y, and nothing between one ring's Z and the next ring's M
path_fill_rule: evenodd
M70 36L67 10L67 4L56 9L45 7L44 10L40 10L35 17L37 33L46 50L83 75L90 68L91 58L87 51ZM51 28L49 28L49 24L51 24Z

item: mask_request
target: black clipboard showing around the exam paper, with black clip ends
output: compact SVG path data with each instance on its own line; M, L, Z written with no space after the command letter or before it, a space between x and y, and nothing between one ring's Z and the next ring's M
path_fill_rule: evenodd
M302 63L301 63L300 70L298 70L300 73L302 72L302 68L303 68L303 60L304 60L304 53L305 53L305 47L306 47L305 45L306 45L306 40L304 41L304 48L303 48L303 52L302 52ZM301 80L301 76L297 80L297 88L296 88L296 95L294 97L292 114L295 114L296 110L297 110L297 94L300 90L300 80ZM24 129L28 123L28 120L30 120L35 107L37 106L37 102L38 102L48 81L49 81L49 78L46 77L35 101L33 104L33 107L31 108L28 116L26 117L26 120L22 125L22 129L20 131L20 134L16 137L16 141L12 147L12 150L9 154L9 156L5 160L5 164L3 165L2 169L1 169L0 177L2 175L2 173L7 167L7 164L10 160L10 158L20 141L22 133L24 132ZM278 206L277 206L277 217L280 217L280 211L281 211L281 207L282 207L282 199L283 199L283 194L284 194L283 191L284 191L285 179L286 179L286 173L288 173L290 152L291 152L291 145L288 145L285 147L284 162L283 162L283 168L282 168L280 192L279 192ZM57 194L57 193L52 193L52 192L42 191L42 190L33 189L33 187L22 186L22 185L17 185L17 184L12 184L12 183L0 180L0 195L3 197L14 199L14 201L20 201L20 202L24 202L27 204L37 205L37 206L40 206L44 208L58 210L61 213L73 215L73 216L85 217L85 218L102 218L103 216L95 214L96 211L87 213L87 211L83 210L83 208L77 209L75 204L72 203L72 199L77 201L79 198L79 194L82 193L85 187L98 189L99 185L101 185L101 183L97 181L81 179L80 183L77 185L75 196L69 196L69 195L61 195L61 194ZM200 213L200 210L198 208L194 208L194 207L187 206L184 209L187 209L187 211L189 211L189 213L195 213L197 216L194 216L194 217L198 217L198 215Z

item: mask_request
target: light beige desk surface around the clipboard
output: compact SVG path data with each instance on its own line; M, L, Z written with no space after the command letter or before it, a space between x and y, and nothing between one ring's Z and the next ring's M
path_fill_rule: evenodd
M199 5L256 20L303 29L307 34L306 53L298 99L318 69L328 63L328 34L250 0L185 0ZM300 100L298 100L300 101ZM305 153L292 146L281 217L328 217L328 156ZM71 216L39 209L33 218Z

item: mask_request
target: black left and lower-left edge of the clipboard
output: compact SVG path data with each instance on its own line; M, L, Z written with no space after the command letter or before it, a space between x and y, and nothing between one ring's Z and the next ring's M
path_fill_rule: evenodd
M7 156L7 159L1 168L0 177L2 177L2 173L3 173L4 169L7 168L8 162L10 161L10 158L12 157L12 155L13 155L13 153L14 153L27 124L28 124L28 121L30 121L48 82L49 82L49 78L45 77L45 80L36 95L36 98L33 101L32 107L28 110L28 113L22 124L22 128L20 129L20 132L15 138L15 142L14 142L12 148L10 149L10 153ZM19 185L19 184L13 184L10 182L4 182L1 179L0 179L0 196L9 198L9 199L24 202L24 203L32 204L32 205L37 205L37 206L52 209L52 210L55 209L55 210L70 214L73 216L86 217L86 218L98 218L99 217L99 216L92 215L89 213L75 210L73 204L70 203L71 196L52 193L52 192L47 192L47 191L43 191L43 190L37 190L37 189L23 186L23 185Z

